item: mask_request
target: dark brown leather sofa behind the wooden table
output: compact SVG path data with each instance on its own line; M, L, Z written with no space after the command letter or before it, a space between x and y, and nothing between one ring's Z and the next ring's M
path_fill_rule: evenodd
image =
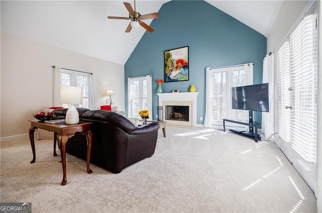
M106 110L77 108L79 120L93 122L91 163L112 173L154 154L159 124L151 123L135 127L127 118ZM53 113L65 116L67 109ZM87 140L82 134L68 139L66 152L86 160Z

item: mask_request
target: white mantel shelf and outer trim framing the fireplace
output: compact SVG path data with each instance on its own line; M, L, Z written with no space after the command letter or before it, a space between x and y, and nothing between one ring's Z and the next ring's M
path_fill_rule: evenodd
M158 106L163 106L164 101L192 101L192 125L197 125L197 95L199 92L172 92L156 93L158 95Z

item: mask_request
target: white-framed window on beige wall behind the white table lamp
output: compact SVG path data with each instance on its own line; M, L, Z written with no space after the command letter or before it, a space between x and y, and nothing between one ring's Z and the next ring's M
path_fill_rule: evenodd
M62 86L75 86L83 88L83 104L76 104L75 107L84 107L90 109L89 76L89 73L70 71L63 68L60 69Z

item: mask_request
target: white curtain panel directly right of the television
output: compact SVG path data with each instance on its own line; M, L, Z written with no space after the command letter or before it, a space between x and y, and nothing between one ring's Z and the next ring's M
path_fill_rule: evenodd
M274 53L269 53L263 60L263 83L268 83L269 112L262 113L262 132L266 137L274 132Z

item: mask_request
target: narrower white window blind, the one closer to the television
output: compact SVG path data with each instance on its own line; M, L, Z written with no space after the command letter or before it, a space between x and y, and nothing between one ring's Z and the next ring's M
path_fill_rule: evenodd
M290 42L285 42L277 51L277 88L278 88L278 134L283 140L290 141Z

